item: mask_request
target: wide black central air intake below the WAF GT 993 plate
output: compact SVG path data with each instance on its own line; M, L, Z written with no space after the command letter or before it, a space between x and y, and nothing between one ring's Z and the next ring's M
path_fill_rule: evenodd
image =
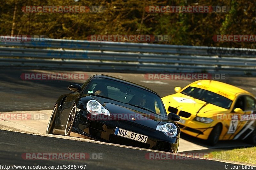
M150 147L150 144L145 144L132 139L127 139L125 137L119 137L114 134L109 135L109 141L114 144L122 144L122 145L134 146L139 148L145 148L145 149L149 149Z

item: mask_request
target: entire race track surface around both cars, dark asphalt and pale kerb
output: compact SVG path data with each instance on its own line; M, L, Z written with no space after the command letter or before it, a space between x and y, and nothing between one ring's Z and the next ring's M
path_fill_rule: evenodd
M0 112L42 112L51 114L51 109L61 94L69 93L70 83L83 84L85 80L22 80L20 75L28 72L63 73L64 71L0 70ZM66 72L67 73L67 72ZM70 72L69 72L70 73ZM92 72L86 72L88 77ZM98 74L101 74L100 72ZM161 97L174 93L174 87L184 87L194 80L148 80L143 74L102 73L147 86ZM224 82L244 88L256 95L256 78L228 77ZM46 110L46 111L45 111ZM99 142L45 135L48 120L27 122L0 122L0 165L86 165L85 169L225 169L228 163L205 159L148 160L150 150L103 144ZM27 128L27 129L26 129ZM20 131L20 132L19 132ZM21 133L22 132L22 133ZM179 151L208 149L203 141L188 135L180 139ZM220 141L215 148L246 146L241 141ZM102 153L96 160L24 160L22 153ZM156 152L153 152L156 153ZM2 168L0 168L2 169ZM230 169L230 168L229 168Z

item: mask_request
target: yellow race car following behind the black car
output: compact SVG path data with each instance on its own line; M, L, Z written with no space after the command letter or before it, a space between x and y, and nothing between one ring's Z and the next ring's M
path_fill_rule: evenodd
M198 80L162 98L167 113L180 116L180 131L205 139L243 139L256 144L256 98L241 88L214 80Z

